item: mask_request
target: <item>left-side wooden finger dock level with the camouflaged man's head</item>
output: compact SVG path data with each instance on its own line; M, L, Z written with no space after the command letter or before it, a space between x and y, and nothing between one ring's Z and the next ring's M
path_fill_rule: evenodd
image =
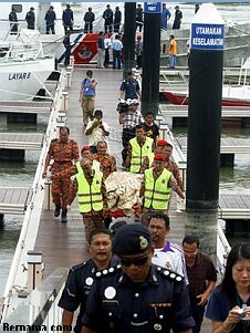
M40 149L43 143L42 133L0 133L1 149Z

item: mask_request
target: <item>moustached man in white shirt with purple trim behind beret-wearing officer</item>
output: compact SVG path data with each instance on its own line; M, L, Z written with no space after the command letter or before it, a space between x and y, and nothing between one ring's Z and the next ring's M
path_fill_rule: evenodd
M170 230L169 217L160 211L153 212L149 219L148 230L152 235L155 249L152 262L183 275L185 283L188 284L183 249L166 239Z

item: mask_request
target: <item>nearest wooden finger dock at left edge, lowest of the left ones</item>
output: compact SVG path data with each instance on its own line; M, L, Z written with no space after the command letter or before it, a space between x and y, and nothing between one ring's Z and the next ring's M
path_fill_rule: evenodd
M23 215L29 199L28 187L4 187L0 189L0 214Z

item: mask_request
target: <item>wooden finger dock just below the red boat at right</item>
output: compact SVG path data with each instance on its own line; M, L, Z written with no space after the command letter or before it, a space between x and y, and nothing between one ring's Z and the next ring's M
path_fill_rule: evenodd
M160 104L159 111L164 117L187 117L188 105ZM221 117L250 117L248 106L222 106Z

